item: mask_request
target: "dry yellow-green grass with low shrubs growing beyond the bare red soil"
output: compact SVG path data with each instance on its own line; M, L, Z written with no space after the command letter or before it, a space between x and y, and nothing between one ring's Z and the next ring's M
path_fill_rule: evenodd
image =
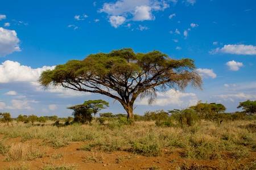
M6 137L21 137L22 141L42 139L53 148L60 148L73 141L86 141L80 150L86 151L128 151L144 156L166 154L165 150L183 148L181 156L191 159L230 159L241 160L256 148L255 121L232 121L221 125L202 121L191 127L162 128L154 122L136 122L133 126L109 122L108 125L72 125L57 128L55 126L30 126L14 124L2 126L0 134ZM248 128L249 127L249 128ZM28 152L29 146L11 146L7 160L35 159L40 152ZM4 147L2 147L4 148ZM2 149L5 150L5 149ZM0 143L1 151L1 143ZM17 152L18 156L11 154ZM228 155L225 153L228 152ZM30 156L29 156L30 155Z

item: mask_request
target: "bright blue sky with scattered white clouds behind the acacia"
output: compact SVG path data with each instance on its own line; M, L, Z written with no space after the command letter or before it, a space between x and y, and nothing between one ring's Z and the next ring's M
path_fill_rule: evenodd
M256 2L218 0L5 1L0 6L0 112L70 116L67 108L105 99L103 112L125 113L105 96L42 90L40 73L69 59L133 48L195 59L203 91L159 94L135 113L220 102L229 112L256 100Z

